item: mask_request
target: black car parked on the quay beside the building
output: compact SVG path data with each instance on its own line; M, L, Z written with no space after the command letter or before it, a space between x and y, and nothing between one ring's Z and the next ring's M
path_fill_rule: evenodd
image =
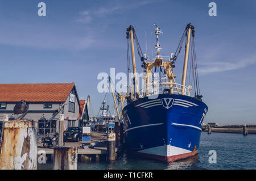
M82 128L81 127L69 127L64 131L64 141L77 141L82 140Z

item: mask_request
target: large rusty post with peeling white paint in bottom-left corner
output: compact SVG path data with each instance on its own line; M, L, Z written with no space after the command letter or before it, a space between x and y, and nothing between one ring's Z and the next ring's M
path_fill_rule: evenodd
M36 170L38 148L33 121L4 121L0 169Z

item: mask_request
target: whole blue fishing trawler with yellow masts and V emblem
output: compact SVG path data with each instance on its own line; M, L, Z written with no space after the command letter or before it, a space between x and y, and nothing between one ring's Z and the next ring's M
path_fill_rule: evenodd
M201 127L208 107L203 102L203 96L200 95L199 90L195 28L189 23L185 27L174 55L162 56L159 35L163 31L156 24L154 26L156 56L151 58L142 53L134 27L127 28L127 45L131 49L133 58L134 79L130 88L132 91L129 96L126 96L127 106L122 110L125 140L129 153L163 162L172 162L197 154ZM138 47L144 73L145 83L141 90L137 82L134 41ZM179 84L175 81L174 68L184 41L183 77ZM191 53L189 53L189 48ZM188 67L188 62L190 67ZM190 70L189 74L187 74L187 69ZM186 79L190 84L188 86L186 86ZM195 95L192 96L193 93Z

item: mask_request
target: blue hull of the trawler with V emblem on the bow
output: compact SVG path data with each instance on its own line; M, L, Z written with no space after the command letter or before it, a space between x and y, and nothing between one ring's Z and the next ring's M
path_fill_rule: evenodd
M197 154L205 103L185 95L159 94L123 109L129 153L172 162Z

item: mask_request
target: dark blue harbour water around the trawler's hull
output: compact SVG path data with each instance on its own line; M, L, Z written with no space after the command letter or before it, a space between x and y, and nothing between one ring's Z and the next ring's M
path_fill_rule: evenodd
M209 163L209 151L217 153L217 163ZM199 153L181 161L162 163L124 154L114 163L78 163L79 170L172 170L172 169L256 169L256 134L201 133ZM52 169L52 164L38 164L38 169Z

